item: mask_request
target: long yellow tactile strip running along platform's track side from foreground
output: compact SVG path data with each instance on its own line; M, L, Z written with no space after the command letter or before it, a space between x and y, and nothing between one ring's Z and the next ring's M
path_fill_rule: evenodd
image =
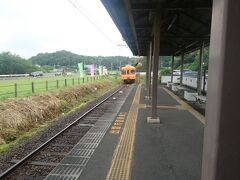
M130 177L140 91L141 85L137 88L120 141L115 149L106 180L128 180Z

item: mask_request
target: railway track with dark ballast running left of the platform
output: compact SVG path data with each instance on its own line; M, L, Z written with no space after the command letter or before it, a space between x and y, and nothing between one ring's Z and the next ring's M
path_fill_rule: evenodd
M121 96L118 92L124 87L127 88L120 86L108 94L22 159L11 159L13 165L0 175L0 179L44 179L94 126L99 117L114 105L117 96ZM111 98L113 96L116 98Z

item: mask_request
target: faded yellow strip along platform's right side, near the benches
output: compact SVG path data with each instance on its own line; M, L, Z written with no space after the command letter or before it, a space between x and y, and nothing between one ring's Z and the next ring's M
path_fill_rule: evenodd
M163 88L164 91L166 91L172 98L174 98L179 104L181 104L182 109L187 110L188 112L190 112L193 116L195 116L199 121L201 121L203 124L205 124L205 117L200 114L199 112L197 112L195 109L193 109L191 106L189 106L186 102L184 102L183 100L181 100L178 96L176 96L175 94L173 94L172 92L170 92L169 90L167 90L166 88Z

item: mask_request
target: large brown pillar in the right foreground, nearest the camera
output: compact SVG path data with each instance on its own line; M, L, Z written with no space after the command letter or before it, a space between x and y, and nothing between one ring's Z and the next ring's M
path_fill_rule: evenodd
M239 7L213 0L202 180L240 179Z

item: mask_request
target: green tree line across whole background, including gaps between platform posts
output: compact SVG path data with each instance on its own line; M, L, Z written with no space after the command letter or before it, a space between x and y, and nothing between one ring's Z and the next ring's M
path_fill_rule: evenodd
M205 48L204 60L208 64L209 49ZM96 66L106 66L108 70L117 70L126 64L135 65L138 58L124 56L83 56L69 51L57 51L53 53L39 53L29 59L21 58L19 55L10 52L0 53L0 74L24 74L34 71L50 72L53 68L67 68L76 71L78 63L85 65L95 64ZM142 68L146 70L146 57L140 59ZM185 55L184 69L196 71L198 68L199 51ZM159 67L165 69L165 73L170 72L172 57L160 57ZM181 58L175 57L174 69L180 69Z

